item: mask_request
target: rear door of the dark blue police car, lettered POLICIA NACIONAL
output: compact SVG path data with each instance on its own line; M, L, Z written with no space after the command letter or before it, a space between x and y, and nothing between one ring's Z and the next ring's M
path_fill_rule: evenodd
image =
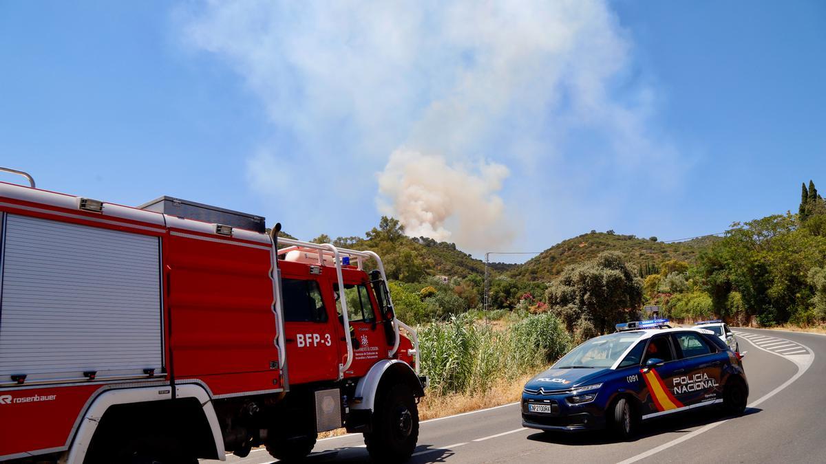
M687 406L721 399L720 375L728 356L718 353L712 343L696 332L677 332L672 337L685 369L674 379L677 400Z

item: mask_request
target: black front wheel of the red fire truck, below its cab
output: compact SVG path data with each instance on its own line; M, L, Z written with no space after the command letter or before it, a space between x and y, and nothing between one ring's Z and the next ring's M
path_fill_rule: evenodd
M419 410L413 391L396 384L377 398L373 432L364 433L364 444L373 462L406 462L419 439Z

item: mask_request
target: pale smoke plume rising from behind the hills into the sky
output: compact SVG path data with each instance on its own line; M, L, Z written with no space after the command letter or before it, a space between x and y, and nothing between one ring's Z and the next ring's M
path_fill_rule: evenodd
M176 17L275 126L249 157L252 187L329 206L328 222L373 199L408 234L485 251L518 234L526 205L547 210L572 191L554 190L575 177L555 169L567 152L586 154L567 160L583 163L583 183L668 153L643 129L651 92L615 97L629 45L601 0L209 2ZM283 172L349 177L307 189ZM365 172L377 189L354 182ZM529 196L506 204L508 192Z

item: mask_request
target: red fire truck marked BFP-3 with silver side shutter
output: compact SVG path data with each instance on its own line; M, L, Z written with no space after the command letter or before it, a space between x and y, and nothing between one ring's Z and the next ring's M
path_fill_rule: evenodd
M0 461L300 460L339 427L406 461L427 380L381 258L279 230L0 182Z

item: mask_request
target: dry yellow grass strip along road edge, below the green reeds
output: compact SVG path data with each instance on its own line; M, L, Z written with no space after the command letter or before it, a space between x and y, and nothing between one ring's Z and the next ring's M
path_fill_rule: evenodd
M520 376L514 381L499 381L490 391L478 393L477 395L425 396L419 402L419 419L437 419L519 401L522 397L522 387L530 380L530 377L530 375L526 375ZM344 428L336 428L330 430L330 432L319 433L318 438L338 437L345 433L347 431Z

